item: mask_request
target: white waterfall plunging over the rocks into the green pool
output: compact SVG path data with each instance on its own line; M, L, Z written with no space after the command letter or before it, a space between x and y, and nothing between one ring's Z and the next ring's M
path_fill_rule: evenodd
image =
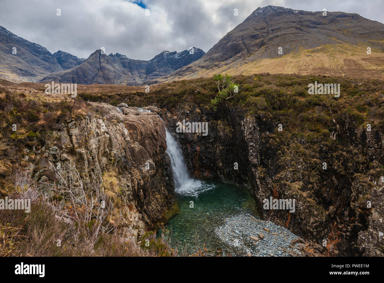
M202 191L212 189L212 185L207 185L204 181L190 178L181 148L167 129L166 141L166 152L169 155L172 165L173 178L175 181L175 191L182 195L197 196Z

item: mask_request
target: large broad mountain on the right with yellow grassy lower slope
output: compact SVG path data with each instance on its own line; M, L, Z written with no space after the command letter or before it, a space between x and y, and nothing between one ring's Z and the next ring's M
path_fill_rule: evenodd
M383 43L384 24L358 14L259 7L202 58L152 83L215 73L382 78Z

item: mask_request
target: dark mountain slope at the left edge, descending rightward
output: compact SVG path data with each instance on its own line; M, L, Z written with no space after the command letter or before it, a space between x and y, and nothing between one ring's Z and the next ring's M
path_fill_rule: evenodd
M52 72L72 68L81 63L81 60L85 59L79 59L63 51L52 54L45 47L18 37L0 26L2 79L12 82L37 82Z

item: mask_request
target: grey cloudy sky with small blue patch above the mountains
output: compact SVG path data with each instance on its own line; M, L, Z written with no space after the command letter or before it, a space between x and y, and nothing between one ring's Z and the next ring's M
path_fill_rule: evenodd
M384 23L384 1L370 0L1 0L0 25L51 53L106 53L149 60L163 50L207 52L258 7L343 11ZM57 16L57 9L61 16ZM238 16L233 10L238 9ZM149 15L146 15L149 9Z

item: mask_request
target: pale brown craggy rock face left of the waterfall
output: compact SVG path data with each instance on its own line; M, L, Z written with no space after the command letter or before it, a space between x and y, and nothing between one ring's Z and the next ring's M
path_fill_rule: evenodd
M43 184L55 179L49 162L59 163L60 174L71 176L74 183L79 181L76 167L87 193L95 178L103 181L109 196L118 195L126 203L123 213L127 217L119 228L127 238L137 240L164 217L164 211L174 201L164 122L156 113L137 108L105 103L92 103L91 108L102 115L88 113L81 119L56 125L58 145L46 144L29 163L30 172L40 181L43 194L54 198L60 196Z

